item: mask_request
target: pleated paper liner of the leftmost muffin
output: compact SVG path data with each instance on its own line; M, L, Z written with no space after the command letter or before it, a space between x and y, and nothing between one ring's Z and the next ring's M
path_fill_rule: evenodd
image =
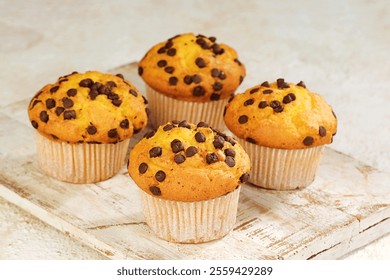
M94 183L114 176L125 163L129 139L115 144L58 142L36 133L38 166L70 183Z

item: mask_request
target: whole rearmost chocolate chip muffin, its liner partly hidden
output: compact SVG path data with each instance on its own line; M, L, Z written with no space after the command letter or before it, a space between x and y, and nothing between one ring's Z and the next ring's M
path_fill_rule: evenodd
M186 119L223 129L224 106L243 81L245 67L236 51L215 37L187 33L153 46L138 73L146 83L154 127Z

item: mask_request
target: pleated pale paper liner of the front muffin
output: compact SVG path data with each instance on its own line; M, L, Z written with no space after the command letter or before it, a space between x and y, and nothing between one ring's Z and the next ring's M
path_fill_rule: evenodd
M240 187L224 196L197 202L171 201L141 193L147 224L158 237L170 242L220 239L236 222Z

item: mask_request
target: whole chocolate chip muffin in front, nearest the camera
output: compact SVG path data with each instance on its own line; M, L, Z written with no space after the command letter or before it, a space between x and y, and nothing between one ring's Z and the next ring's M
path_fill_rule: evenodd
M147 224L179 243L219 239L234 226L240 185L250 161L231 137L206 123L173 121L148 133L130 152Z

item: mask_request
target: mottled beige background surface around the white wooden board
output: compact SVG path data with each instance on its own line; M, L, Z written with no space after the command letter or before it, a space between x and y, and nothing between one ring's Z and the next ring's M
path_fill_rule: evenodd
M247 67L240 89L305 81L338 116L332 148L390 172L389 10L386 0L0 0L0 106L58 76L105 71L178 33L202 33L237 50ZM0 259L103 258L1 198L0 236ZM346 258L390 259L390 236Z

